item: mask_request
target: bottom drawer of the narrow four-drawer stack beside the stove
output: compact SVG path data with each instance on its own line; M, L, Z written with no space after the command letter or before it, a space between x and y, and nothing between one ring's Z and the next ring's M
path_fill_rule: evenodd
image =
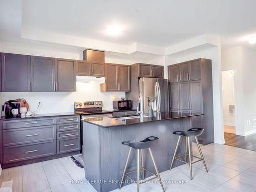
M57 153L68 153L80 150L80 137L73 139L58 139L57 140Z

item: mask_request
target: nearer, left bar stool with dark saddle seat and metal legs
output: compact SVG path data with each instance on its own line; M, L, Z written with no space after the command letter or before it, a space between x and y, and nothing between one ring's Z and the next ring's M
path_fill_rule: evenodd
M145 183L147 181L150 181L152 179L156 179L158 178L159 179L159 182L161 184L161 187L164 190L163 188L163 184L162 184L162 181L161 181L161 178L160 178L160 174L158 172L158 168L157 168L157 165L156 165L156 162L155 162L155 159L154 159L154 156L153 156L153 153L151 151L151 146L153 146L156 142L157 142L158 138L157 137L154 137L154 136L151 136L151 137L147 137L145 138L144 140L142 141L139 141L139 142L131 142L131 141L123 141L122 144L123 145L127 145L127 146L130 146L130 150L129 150L129 153L128 153L128 156L127 156L127 159L126 159L126 163L125 163L125 166L124 166L124 170L123 170L123 175L122 175L122 180L121 180L121 183L120 183L120 187L119 189L121 189L122 187L122 183L123 183L123 179L124 177L128 177L129 179L131 179L132 181L134 181L135 183L137 183L137 192L139 192L140 190L140 184L142 183ZM126 172L126 168L127 168L127 165L128 165L128 162L129 162L129 159L130 159L130 156L131 156L131 151L132 151L132 148L136 149L137 150L137 169L135 170L132 170L131 172ZM157 174L154 174L153 172L151 172L150 170L147 170L146 168L144 168L143 166L143 153L142 153L142 150L144 149L148 149L148 151L150 152L150 156L151 156L151 159L153 161L153 164L154 164L154 167L156 169L156 173ZM140 167L140 161L141 161L141 167ZM142 174L143 174L143 180L140 181L140 170L142 170ZM148 179L148 180L144 180L144 171L147 171L148 173L151 173L152 175L154 175L155 177L151 178L151 179ZM137 171L137 180L134 180L132 179L130 176L128 176L127 174L130 174L130 173L133 173L133 172L136 172Z

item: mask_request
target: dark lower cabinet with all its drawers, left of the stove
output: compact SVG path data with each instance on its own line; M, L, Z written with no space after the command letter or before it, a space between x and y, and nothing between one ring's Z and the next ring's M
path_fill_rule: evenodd
M5 164L80 150L79 115L5 119L3 129L4 167Z

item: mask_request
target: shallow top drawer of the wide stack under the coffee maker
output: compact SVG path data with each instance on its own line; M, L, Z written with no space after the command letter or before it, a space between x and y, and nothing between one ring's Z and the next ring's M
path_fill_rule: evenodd
M42 125L53 125L56 124L56 118L31 118L31 119L16 119L16 120L6 120L3 121L3 128L5 129L15 129L22 127L33 127Z

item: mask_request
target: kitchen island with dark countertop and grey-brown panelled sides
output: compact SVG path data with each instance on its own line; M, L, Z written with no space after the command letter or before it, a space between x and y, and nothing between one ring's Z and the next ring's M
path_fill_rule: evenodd
M141 141L148 136L159 138L158 143L152 147L159 172L169 169L177 135L174 131L186 131L195 127L197 118L202 113L155 113L154 117L90 117L83 118L83 154L85 162L86 179L97 191L111 191L119 187L129 147L122 145L122 141ZM193 122L193 123L192 123ZM178 154L184 153L185 142L181 141ZM143 151L144 167L155 172L152 160L147 150ZM132 150L127 172L137 167L136 150ZM184 159L183 159L184 160ZM182 162L175 161L174 167ZM146 173L146 177L151 175ZM136 173L131 174L136 178ZM182 178L181 178L182 179ZM131 181L125 178L124 185Z

